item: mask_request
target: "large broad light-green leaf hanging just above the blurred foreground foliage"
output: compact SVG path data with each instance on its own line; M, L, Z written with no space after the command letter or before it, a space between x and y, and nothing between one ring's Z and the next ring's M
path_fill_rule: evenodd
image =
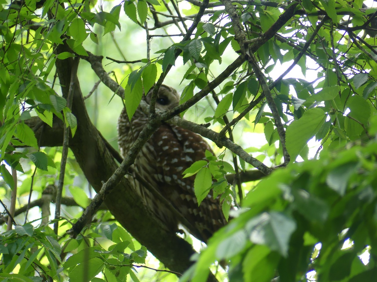
M295 161L303 147L318 132L326 120L325 112L322 109L308 109L299 120L294 120L286 131L286 146Z

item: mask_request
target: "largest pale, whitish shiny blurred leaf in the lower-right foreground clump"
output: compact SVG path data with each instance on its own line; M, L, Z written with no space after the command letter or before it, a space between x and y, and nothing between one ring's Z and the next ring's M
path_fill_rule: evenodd
M250 241L266 245L282 256L288 255L289 241L296 230L296 221L280 212L267 212L252 218L247 223Z

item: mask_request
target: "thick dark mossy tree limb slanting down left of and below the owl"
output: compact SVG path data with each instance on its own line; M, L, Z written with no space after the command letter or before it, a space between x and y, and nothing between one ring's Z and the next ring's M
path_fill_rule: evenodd
M89 58L93 59L93 57ZM95 59L92 62L102 68L100 62ZM68 92L71 70L72 59L57 60L57 71L64 95ZM101 78L102 73L99 74ZM115 83L106 72L104 74L101 80ZM124 95L123 89L120 93ZM77 80L73 99L72 112L77 118L78 126L72 142L69 142L70 149L74 152L87 180L98 192L103 186L102 182L106 182L118 166L103 138L90 122ZM54 131L54 128L48 130ZM48 138L45 139L49 141ZM150 214L126 177L121 177L111 193L106 195L105 203L116 220L170 270L183 273L192 264L190 257L195 253L192 246L179 238L174 230L166 230L162 222Z

